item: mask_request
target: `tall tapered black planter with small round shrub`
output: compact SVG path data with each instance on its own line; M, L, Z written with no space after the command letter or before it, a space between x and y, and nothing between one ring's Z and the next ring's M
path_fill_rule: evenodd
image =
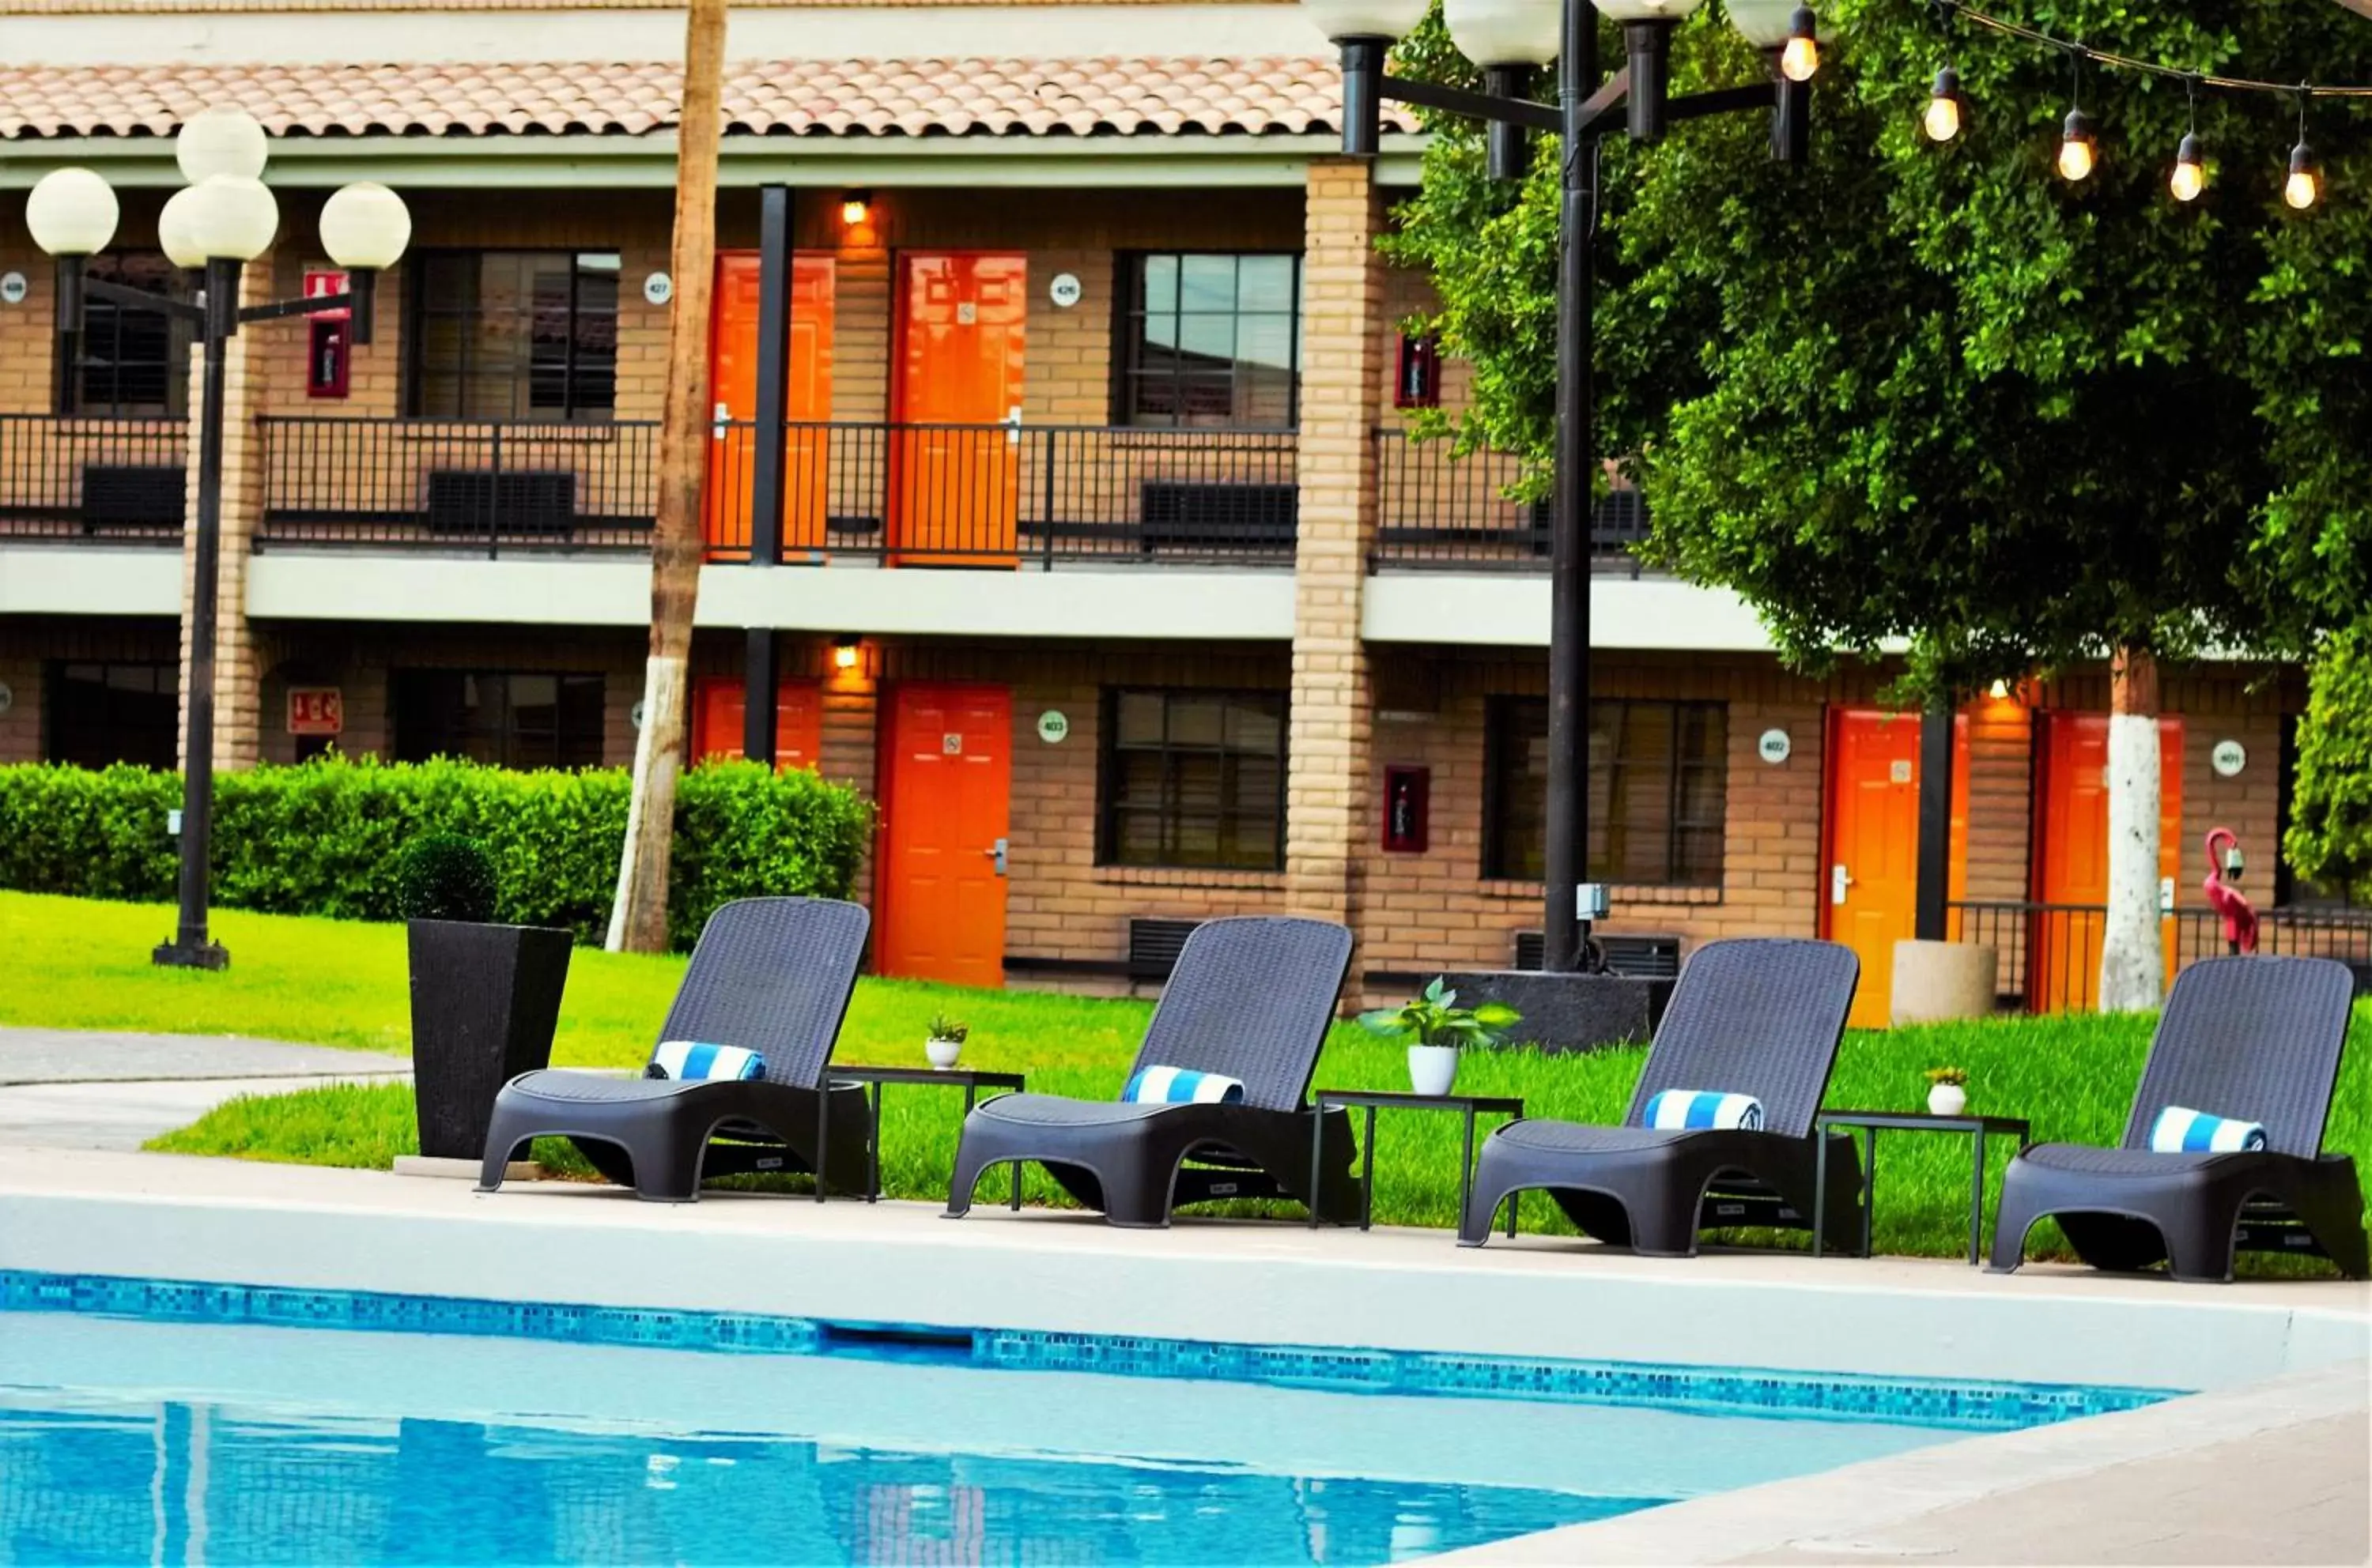
M496 925L493 859L458 833L415 837L396 866L413 975L413 1108L420 1153L477 1162L493 1096L548 1067L567 930Z

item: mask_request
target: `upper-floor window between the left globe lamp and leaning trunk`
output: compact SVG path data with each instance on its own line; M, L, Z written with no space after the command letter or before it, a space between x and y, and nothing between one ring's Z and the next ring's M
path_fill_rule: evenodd
M408 413L610 418L617 251L425 251L410 270Z

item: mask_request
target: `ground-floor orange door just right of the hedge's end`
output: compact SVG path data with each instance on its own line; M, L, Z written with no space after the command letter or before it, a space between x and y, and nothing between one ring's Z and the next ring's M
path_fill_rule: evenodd
M1006 807L1013 697L1001 686L899 686L882 757L873 961L885 975L1006 982Z

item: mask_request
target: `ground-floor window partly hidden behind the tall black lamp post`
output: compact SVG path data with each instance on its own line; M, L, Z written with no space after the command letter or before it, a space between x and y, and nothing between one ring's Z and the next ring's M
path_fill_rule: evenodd
M1589 705L1589 878L1717 887L1727 724L1720 702ZM1547 859L1549 705L1499 697L1485 742L1482 875L1539 880Z

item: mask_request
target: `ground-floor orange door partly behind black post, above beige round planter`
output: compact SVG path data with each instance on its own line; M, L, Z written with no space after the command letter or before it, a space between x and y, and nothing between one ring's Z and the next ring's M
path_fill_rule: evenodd
M1895 942L1919 923L1919 714L1829 714L1829 830L1822 935L1862 958L1855 1030L1893 1022ZM1969 721L1952 738L1952 878L1959 897L1969 854Z

